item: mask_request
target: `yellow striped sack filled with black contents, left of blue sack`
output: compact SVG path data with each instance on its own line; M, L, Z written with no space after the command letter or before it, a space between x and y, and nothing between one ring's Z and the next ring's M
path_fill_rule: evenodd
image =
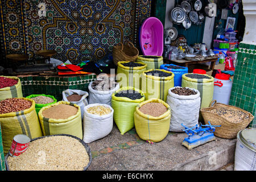
M150 69L142 73L142 92L146 100L160 98L166 102L168 90L174 87L174 73L164 69Z

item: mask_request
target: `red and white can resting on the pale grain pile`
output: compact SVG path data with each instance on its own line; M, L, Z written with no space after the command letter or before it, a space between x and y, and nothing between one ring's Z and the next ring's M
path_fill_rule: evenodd
M30 140L31 139L27 137L27 135L15 135L9 151L10 156L19 156L26 151Z

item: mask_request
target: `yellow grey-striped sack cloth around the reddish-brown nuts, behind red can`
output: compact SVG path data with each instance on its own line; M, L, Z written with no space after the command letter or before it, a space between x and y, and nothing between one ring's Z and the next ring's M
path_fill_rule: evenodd
M0 114L3 151L5 155L10 150L15 135L24 134L30 139L42 137L42 130L35 110L35 101L30 98L23 99L32 102L30 108L16 113Z

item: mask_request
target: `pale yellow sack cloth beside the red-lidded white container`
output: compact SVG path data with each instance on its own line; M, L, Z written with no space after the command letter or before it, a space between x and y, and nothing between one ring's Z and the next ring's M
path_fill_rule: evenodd
M199 90L200 97L201 97L200 109L209 107L210 102L212 102L212 98L213 98L214 78L207 74L204 74L204 75L210 77L210 79L207 79L207 78L197 79L197 78L189 78L186 76L191 74L193 73L185 73L184 75L182 75L181 86Z

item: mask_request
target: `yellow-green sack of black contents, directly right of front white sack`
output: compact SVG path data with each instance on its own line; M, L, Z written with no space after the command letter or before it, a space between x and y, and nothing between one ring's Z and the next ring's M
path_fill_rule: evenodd
M130 86L122 87L112 94L114 121L122 135L133 129L135 108L144 100L144 93Z

